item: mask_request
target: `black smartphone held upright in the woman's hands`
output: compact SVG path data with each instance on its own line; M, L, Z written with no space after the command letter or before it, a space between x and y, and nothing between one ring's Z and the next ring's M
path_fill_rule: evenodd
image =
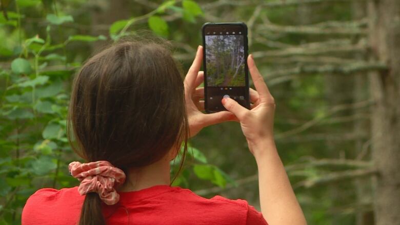
M226 110L225 95L249 109L246 24L206 23L202 33L205 111Z

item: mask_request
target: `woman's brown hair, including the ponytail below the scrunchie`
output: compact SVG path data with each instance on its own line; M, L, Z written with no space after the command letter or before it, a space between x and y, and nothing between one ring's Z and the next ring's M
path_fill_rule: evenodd
M183 77L154 40L117 43L90 58L74 79L68 134L87 161L127 172L180 149L189 136ZM105 224L97 193L85 197L79 224Z

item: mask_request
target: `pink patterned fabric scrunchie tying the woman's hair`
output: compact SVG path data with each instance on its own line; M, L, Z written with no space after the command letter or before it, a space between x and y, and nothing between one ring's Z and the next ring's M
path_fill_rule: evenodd
M124 171L111 165L109 161L95 161L88 163L71 162L69 172L79 181L78 192L86 195L90 192L98 193L98 196L106 204L111 205L119 201L119 194L114 186L125 181Z

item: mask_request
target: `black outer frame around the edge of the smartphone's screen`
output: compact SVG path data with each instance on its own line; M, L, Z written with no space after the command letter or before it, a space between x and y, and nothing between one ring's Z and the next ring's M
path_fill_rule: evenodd
M249 69L247 65L247 57L248 53L248 38L247 38L247 25L243 22L237 23L205 23L202 26L202 38L203 38L203 71L204 71L204 108L206 113L214 113L219 111L209 110L208 108L208 93L207 93L207 66L206 66L206 34L205 29L206 27L229 27L229 26L241 26L243 28L243 39L244 39L244 49L245 49L245 80L246 80L246 87L245 87L245 101L246 101L246 108L250 109L250 96L249 96ZM222 109L220 111L226 111L226 109Z

